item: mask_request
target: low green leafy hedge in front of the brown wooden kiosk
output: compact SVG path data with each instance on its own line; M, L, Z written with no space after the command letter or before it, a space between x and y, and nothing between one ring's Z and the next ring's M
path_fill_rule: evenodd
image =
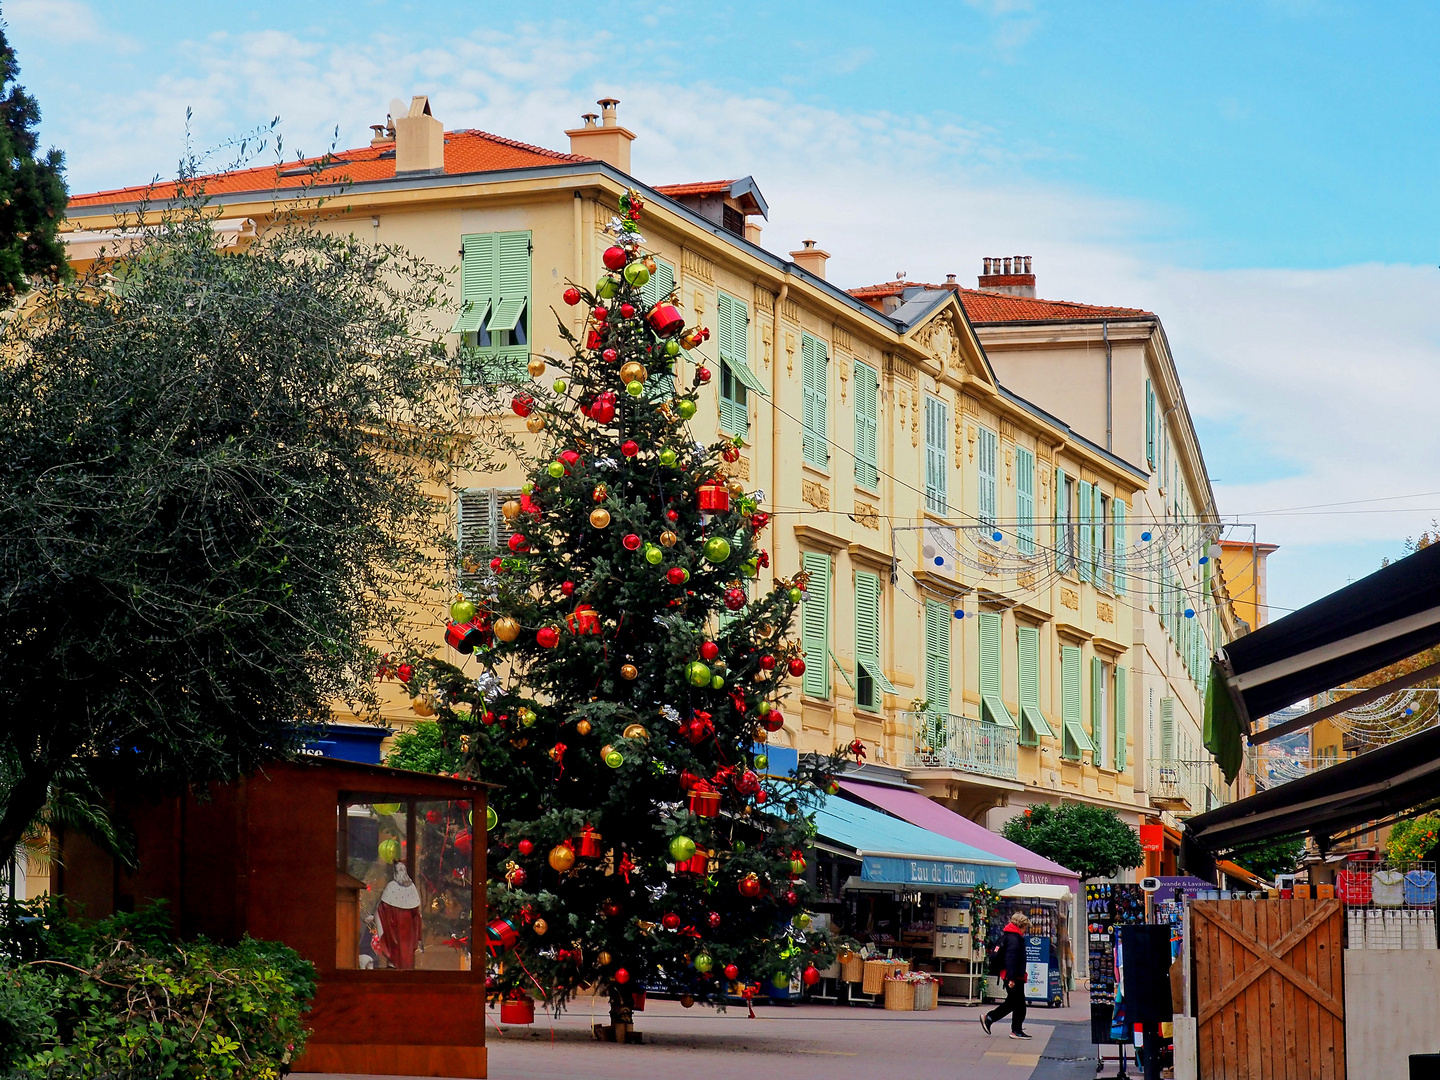
M0 914L0 1074L268 1080L305 1044L315 972L294 949L176 943L154 906L94 923Z

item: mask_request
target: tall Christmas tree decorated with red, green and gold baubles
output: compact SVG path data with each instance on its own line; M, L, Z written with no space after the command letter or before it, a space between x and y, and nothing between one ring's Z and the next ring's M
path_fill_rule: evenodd
M708 333L647 300L641 209L621 200L595 289L564 291L588 317L582 337L560 325L560 377L514 396L540 452L503 508L508 553L461 553L448 626L480 678L435 660L405 672L464 770L501 785L492 991L560 1008L598 986L615 1031L645 986L723 1004L814 984L835 950L804 878L840 755L785 775L766 755L806 664L788 638L804 575L750 596L763 492L727 480L734 442L688 432L713 373L690 363L680 387L677 359Z

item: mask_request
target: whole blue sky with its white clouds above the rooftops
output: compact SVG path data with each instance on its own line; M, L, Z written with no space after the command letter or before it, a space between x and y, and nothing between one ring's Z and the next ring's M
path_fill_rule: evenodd
M171 173L187 107L200 147L281 115L314 151L428 92L564 148L612 94L638 176L753 173L766 245L818 238L840 284L1025 252L1041 295L1156 311L1277 608L1440 517L1440 4L514 10L0 0L72 190Z

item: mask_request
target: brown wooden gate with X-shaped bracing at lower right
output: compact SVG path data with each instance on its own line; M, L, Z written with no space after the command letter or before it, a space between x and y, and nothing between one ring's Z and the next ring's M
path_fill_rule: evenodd
M1197 900L1200 1080L1345 1080L1338 900Z

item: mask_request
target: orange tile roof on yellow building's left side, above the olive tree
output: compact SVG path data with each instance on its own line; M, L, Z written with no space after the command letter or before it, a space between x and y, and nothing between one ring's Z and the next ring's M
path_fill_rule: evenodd
M554 150L533 147L528 143L517 143L513 138L491 135L488 131L467 130L445 132L446 173L488 173L500 168L528 168L534 166L552 166L559 161L589 160L579 154L562 154ZM324 168L312 177L311 167L321 161L324 161ZM321 157L310 157L300 161L287 161L279 166L261 166L256 168L239 168L232 173L216 173L204 177L204 184L209 194L229 194L235 192L272 192L279 187L300 187L315 180L389 180L393 176L395 141L390 140L377 145L337 151L328 161ZM69 209L73 212L91 206L131 203L147 196L151 200L164 200L173 197L174 193L174 183L161 183L154 187L147 184L117 187L108 192L71 196Z

